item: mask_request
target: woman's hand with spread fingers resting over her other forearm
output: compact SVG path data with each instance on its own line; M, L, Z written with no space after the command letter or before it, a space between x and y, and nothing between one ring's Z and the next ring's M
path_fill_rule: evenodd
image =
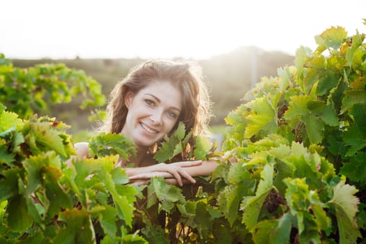
M140 179L148 179L154 176L161 176L163 178L176 178L178 185L182 186L183 181L182 177L188 180L190 183L196 183L195 179L188 174L184 167L193 167L197 165L201 165L202 161L183 161L183 162L173 162L171 164L160 163L158 165L152 165L148 167L148 171L145 171L141 174L135 174L134 176L130 176L130 181L140 180Z

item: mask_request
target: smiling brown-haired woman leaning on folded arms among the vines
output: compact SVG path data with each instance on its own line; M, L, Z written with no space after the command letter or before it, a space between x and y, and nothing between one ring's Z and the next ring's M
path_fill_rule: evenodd
M124 167L131 181L145 183L153 176L162 176L170 183L183 185L183 179L195 183L194 176L210 174L217 163L202 161L158 163L153 159L158 143L173 132L180 121L192 137L206 132L210 102L201 68L194 63L146 61L130 70L116 84L107 105L107 120L102 131L122 133L137 146L137 155ZM192 146L193 139L190 139ZM189 147L189 145L188 145ZM88 144L77 143L79 158L88 157ZM189 150L189 148L185 148Z

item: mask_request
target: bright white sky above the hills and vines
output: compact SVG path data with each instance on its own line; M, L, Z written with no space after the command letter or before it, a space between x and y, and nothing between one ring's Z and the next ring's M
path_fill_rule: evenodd
M206 59L237 47L295 54L330 26L366 33L365 0L4 0L8 58Z

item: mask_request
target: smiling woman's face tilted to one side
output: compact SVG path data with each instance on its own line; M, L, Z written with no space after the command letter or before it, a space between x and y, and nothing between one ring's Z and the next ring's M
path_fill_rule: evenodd
M164 80L155 80L138 93L127 93L128 114L122 134L137 147L149 147L169 133L182 110L182 94Z

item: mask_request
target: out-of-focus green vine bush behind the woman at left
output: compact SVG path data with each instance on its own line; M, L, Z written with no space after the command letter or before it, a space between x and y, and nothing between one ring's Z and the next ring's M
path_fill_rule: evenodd
M0 102L22 119L34 113L49 114L52 105L70 102L82 95L81 109L89 108L90 119L103 113L95 107L105 105L100 84L75 70L59 64L39 64L31 68L17 68L0 53Z

